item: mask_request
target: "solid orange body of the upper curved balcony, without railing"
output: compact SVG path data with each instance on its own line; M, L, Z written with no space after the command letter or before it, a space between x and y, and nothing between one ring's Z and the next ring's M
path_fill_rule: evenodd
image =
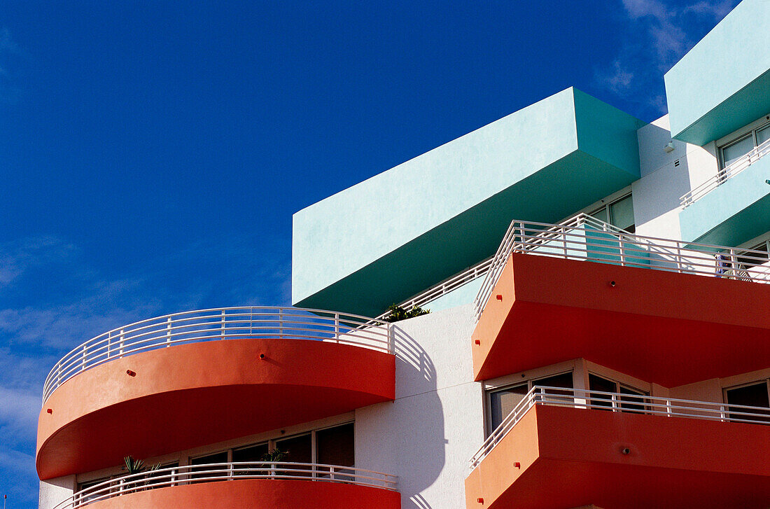
M52 393L39 417L38 474L111 467L128 455L213 444L394 397L395 357L363 347L248 339L138 353Z

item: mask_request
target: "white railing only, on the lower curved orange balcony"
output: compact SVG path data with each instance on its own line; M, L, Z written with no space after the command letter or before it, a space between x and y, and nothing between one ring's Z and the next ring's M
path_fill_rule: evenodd
M115 477L78 491L54 509L75 509L112 497L159 487L179 486L205 482L243 481L246 479L295 479L317 482L335 482L377 487L396 491L398 477L356 467L340 467L314 463L249 462L213 463L186 467L166 467ZM310 501L308 501L310 504ZM131 504L131 502L126 502Z

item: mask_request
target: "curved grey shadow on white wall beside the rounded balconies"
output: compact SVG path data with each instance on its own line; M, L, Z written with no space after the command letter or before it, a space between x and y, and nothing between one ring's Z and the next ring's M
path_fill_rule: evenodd
M393 327L396 350L396 398L393 420L398 430L389 444L402 469L399 476L403 509L432 509L421 494L444 468L447 440L444 408L436 392L436 367L425 350L399 326ZM406 458L406 460L404 460Z

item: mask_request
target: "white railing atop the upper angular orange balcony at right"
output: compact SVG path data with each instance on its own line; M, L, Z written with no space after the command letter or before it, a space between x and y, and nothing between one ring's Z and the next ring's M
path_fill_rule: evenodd
M770 283L766 251L634 235L591 219L577 216L557 225L514 220L474 300L476 320L511 253Z

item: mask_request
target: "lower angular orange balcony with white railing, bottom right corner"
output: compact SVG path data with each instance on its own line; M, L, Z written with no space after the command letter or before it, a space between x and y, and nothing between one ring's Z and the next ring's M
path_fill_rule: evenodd
M768 409L633 398L535 387L471 460L468 509L770 507Z

